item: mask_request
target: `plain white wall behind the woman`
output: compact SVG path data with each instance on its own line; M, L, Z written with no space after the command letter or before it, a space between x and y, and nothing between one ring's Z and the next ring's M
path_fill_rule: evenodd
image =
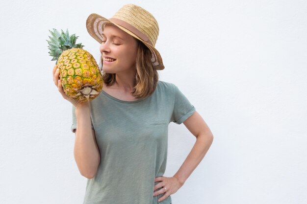
M14 0L0 6L0 203L82 204L72 107L52 81L49 31L68 28L98 60L89 14L126 3L159 23L156 48L214 141L173 204L307 203L307 2L304 0ZM170 124L164 176L194 145Z

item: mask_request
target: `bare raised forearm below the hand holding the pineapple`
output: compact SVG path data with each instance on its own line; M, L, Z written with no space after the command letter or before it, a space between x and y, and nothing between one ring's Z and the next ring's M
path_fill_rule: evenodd
M91 128L90 106L76 108L77 132L74 156L82 176L92 178L100 163L100 153L96 137Z

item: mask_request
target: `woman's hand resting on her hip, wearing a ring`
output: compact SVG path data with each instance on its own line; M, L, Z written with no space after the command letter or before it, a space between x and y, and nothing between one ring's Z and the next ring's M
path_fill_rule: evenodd
M156 177L154 182L157 181L160 182L158 182L153 188L153 197L165 193L161 198L159 198L158 202L161 202L169 195L176 193L178 189L183 185L183 183L181 184L176 177ZM160 190L155 191L160 187L162 187Z

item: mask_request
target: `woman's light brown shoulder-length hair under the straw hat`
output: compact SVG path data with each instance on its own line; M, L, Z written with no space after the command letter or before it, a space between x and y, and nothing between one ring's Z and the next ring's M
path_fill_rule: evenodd
M106 24L104 24L105 26ZM104 28L103 26L103 28ZM137 55L135 60L135 77L133 82L133 91L131 92L135 98L146 98L153 93L159 80L157 70L153 67L150 49L141 41L137 41ZM100 70L102 71L102 80L106 86L115 83L115 73L103 72L102 55L100 57Z

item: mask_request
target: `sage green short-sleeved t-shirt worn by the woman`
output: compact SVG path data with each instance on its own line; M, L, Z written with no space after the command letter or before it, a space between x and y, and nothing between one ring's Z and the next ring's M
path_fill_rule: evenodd
M180 124L194 112L182 92L167 82L158 81L152 95L137 101L102 91L91 101L101 161L96 176L87 180L83 204L171 204L171 196L160 203L163 194L153 197L154 178L165 172L169 123ZM76 128L73 106L72 132Z

